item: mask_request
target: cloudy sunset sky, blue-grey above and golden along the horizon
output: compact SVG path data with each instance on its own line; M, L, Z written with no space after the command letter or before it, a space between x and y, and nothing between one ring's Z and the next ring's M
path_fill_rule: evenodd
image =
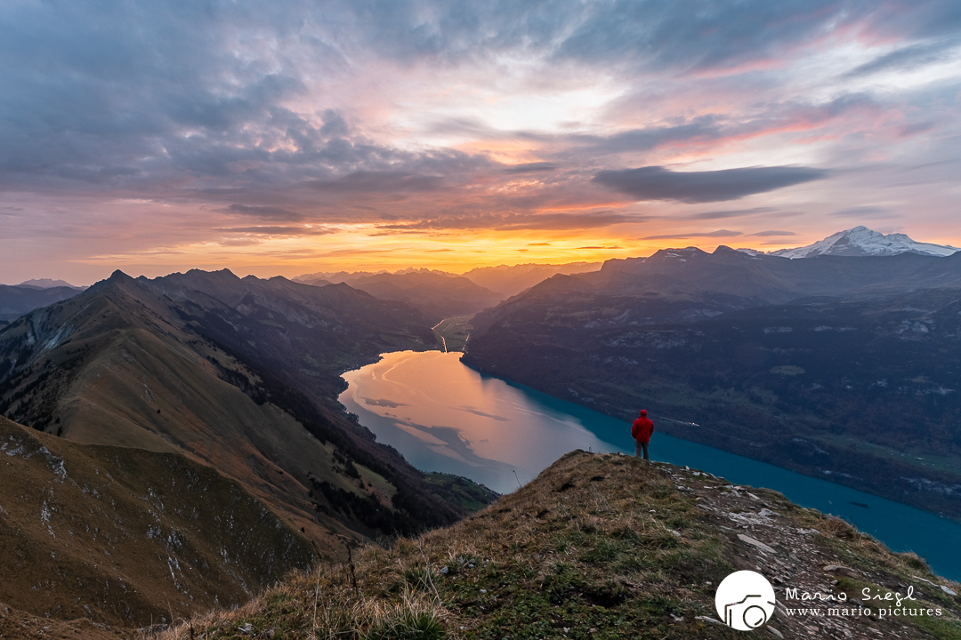
M956 0L4 0L0 282L961 246Z

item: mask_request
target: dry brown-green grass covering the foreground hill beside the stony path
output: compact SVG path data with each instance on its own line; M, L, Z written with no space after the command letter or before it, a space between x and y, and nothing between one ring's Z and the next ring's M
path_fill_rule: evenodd
M568 454L454 527L390 548L369 545L353 565L292 575L254 603L194 619L193 635L182 625L157 640L741 638L698 617L716 617L715 589L744 568L731 564L744 550L668 470L624 456ZM697 484L714 496L727 486L703 475ZM754 491L790 527L821 531L816 544L832 546L850 566L944 583L920 558L891 554L844 521ZM932 597L948 605L941 595ZM950 629L931 632L954 638Z

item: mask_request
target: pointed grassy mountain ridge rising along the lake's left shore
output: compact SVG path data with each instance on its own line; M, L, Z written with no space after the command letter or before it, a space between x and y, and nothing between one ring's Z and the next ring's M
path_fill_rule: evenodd
M342 285L114 273L0 332L0 413L209 464L334 556L343 536L413 533L465 512L335 400L339 371L428 339L416 312Z

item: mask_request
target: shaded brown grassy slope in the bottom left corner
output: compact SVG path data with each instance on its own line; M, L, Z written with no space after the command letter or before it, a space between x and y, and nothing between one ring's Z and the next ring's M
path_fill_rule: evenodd
M243 604L318 559L240 485L184 456L3 417L0 452L2 637L31 616L135 628Z

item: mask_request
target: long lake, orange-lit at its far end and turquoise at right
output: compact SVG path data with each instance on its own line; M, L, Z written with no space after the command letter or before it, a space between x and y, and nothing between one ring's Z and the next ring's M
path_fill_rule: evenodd
M380 362L343 374L349 386L340 402L418 469L465 476L500 493L530 482L574 449L633 455L628 423L480 374L459 358L440 351L385 353ZM665 434L654 434L651 458L736 485L776 489L961 580L961 523Z

